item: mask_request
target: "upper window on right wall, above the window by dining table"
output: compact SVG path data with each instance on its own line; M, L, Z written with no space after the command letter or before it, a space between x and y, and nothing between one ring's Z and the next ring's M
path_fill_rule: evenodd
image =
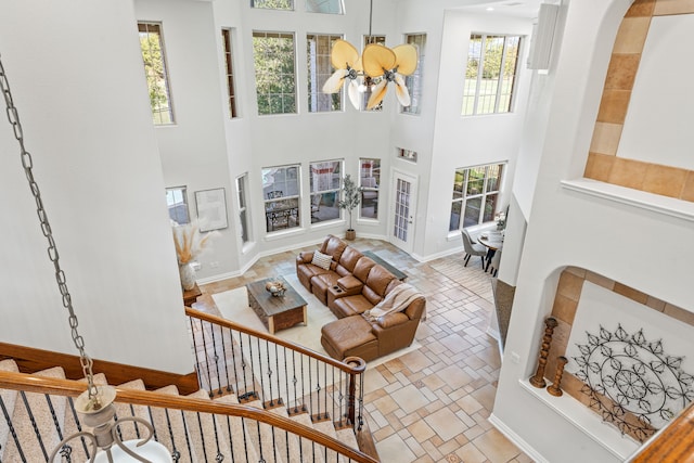
M473 34L463 88L463 116L511 112L519 36Z

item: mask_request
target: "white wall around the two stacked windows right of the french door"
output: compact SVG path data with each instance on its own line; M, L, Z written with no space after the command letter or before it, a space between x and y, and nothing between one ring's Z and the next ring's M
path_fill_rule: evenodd
M457 168L507 162L501 205L510 203L518 144L523 134L530 73L525 68L530 20L484 15L467 10L446 11L441 37L437 107L433 137L430 183L424 236L417 241L422 256L437 256L462 248L460 233L448 231L450 200ZM526 36L519 57L513 112L461 116L463 77L472 33Z

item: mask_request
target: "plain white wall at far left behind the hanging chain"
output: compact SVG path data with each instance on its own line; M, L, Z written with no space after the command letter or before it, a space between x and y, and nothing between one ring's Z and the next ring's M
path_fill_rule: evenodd
M0 53L87 351L191 372L132 4L4 4ZM5 121L0 153L0 338L77 353Z

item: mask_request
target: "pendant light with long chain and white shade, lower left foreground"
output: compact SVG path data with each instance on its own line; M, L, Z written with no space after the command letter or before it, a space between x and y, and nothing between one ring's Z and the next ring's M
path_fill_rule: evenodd
M8 81L4 66L2 65L2 59L0 57L0 91L4 97L7 115L14 132L14 138L20 144L20 155L22 157L22 166L24 173L29 183L29 189L34 195L34 200L37 205L37 215L41 224L41 231L48 240L48 256L53 268L55 269L55 280L57 282L59 291L62 295L63 307L67 309L69 313L69 326L70 335L75 347L79 351L79 362L82 366L82 373L87 381L87 390L77 397L75 400L75 410L82 415L85 425L93 428L92 433L79 432L64 438L53 449L49 463L53 463L55 456L61 453L69 453L65 445L75 438L85 437L92 443L90 462L150 462L150 463L170 463L171 456L169 451L162 443L154 440L150 440L154 434L152 425L146 421L129 416L115 421L116 411L113 406L116 399L116 389L113 386L95 386L94 374L92 371L93 361L87 355L85 350L85 339L77 331L79 325L77 316L73 309L73 298L67 290L67 282L65 279L65 272L60 265L60 256L57 247L55 246L55 240L53 239L53 232L48 221L48 215L43 207L43 201L41 198L41 192L34 179L34 160L31 154L25 147L24 130L20 121L20 114L14 105L12 93L10 91L10 83ZM124 422L137 422L146 427L150 435L142 440L128 440L121 441L118 435L118 426ZM114 447L115 445L115 447ZM101 451L98 452L97 449Z

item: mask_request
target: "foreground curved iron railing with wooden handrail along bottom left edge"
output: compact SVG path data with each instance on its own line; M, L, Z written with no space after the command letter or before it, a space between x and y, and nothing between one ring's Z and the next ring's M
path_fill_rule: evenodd
M0 461L48 461L56 442L85 427L73 398L86 387L69 380L0 371L0 393L10 389L18 395L10 410L0 394L0 424L4 425L0 437L3 433L5 437L0 441ZM119 387L116 393L116 420L139 415L150 422L154 439L169 449L176 462L377 463L312 427L255 407ZM36 417L47 410L50 420ZM142 437L137 422L123 424L118 432L124 440ZM90 445L78 437L64 445L60 455L62 461L83 462L91 452Z

